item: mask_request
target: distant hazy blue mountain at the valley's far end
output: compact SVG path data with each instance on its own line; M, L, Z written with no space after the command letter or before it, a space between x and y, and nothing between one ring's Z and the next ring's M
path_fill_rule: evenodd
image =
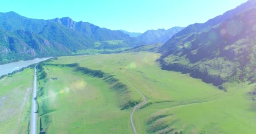
M148 30L142 33L140 36L138 36L137 39L146 44L165 43L175 33L178 33L182 29L183 27L173 27L168 30L165 30L165 29Z

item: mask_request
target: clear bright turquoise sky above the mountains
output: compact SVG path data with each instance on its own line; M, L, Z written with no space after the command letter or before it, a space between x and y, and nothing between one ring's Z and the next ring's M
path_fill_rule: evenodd
M4 0L0 12L28 18L69 16L112 30L149 29L203 23L247 0Z

